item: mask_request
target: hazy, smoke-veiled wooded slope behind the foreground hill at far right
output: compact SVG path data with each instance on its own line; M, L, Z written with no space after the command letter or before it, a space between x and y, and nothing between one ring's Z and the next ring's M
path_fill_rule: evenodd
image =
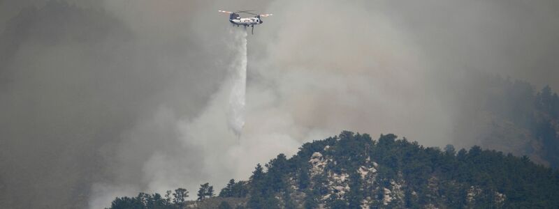
M493 77L484 81L475 111L463 117L459 146L479 145L533 161L559 166L559 96L549 86L540 91L528 82Z

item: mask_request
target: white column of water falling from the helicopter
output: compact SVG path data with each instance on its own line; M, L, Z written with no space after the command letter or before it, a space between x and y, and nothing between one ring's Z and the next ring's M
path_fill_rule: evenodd
M229 127L240 135L245 125L245 101L247 93L247 31L232 31L235 36L233 47L238 53L231 65L231 95L229 96L229 107L227 118Z

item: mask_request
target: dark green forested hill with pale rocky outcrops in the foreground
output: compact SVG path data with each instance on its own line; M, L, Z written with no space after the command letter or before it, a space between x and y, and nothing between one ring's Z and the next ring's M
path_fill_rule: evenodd
M256 165L219 192L201 185L117 198L116 208L558 208L559 172L495 150L428 148L394 134L342 132Z

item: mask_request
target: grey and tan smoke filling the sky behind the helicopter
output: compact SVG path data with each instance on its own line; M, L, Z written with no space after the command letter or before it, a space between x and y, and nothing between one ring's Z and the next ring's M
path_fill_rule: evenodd
M458 121L483 77L559 89L553 0L68 3L0 0L1 208L194 196L341 130L444 146L475 132ZM217 10L242 9L274 16L247 36L238 137L226 103L243 29Z

